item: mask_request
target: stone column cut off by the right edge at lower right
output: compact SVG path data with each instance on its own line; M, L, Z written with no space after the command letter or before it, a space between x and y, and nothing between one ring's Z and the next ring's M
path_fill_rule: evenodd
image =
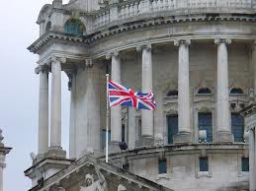
M249 166L250 166L250 191L256 190L256 142L255 128L249 128Z

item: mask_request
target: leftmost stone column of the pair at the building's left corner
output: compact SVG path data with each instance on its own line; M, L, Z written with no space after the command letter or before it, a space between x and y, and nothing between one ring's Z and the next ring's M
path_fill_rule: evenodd
M39 157L48 149L48 67L39 66L36 74L40 74L40 97L39 97Z

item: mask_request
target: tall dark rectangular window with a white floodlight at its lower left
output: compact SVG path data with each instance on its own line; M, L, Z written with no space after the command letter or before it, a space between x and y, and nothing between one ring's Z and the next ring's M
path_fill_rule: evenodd
M199 113L199 130L207 131L207 142L213 142L213 117L212 113ZM205 142L205 140L200 140Z

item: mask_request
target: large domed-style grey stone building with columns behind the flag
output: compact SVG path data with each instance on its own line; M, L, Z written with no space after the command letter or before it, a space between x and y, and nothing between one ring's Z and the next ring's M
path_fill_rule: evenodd
M255 13L256 0L44 5L40 38L29 47L40 56L39 151L25 171L31 191L247 190L239 110L256 92ZM61 147L61 72L71 95L69 157ZM106 73L153 92L156 110L113 107L106 132Z

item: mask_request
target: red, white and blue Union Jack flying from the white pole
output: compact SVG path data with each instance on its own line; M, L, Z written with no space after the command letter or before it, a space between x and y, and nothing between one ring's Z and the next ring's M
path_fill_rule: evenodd
M153 94L134 92L131 89L119 85L111 80L109 84L110 106L132 106L135 108L154 110L156 102Z

